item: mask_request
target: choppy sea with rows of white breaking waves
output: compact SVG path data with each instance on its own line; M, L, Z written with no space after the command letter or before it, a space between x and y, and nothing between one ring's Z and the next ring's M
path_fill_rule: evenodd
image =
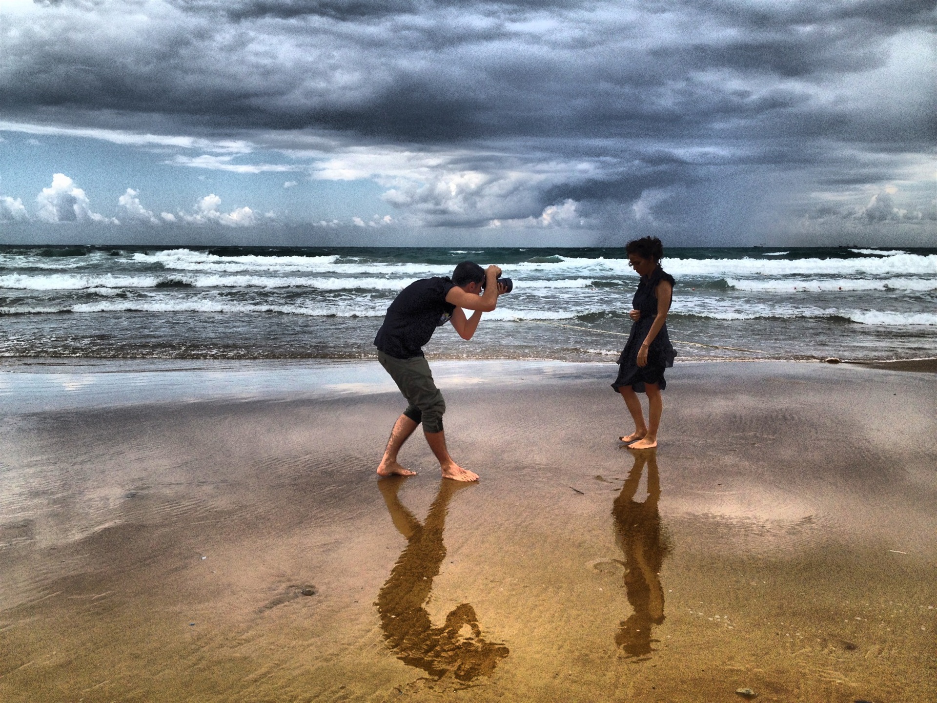
M0 356L361 359L397 292L496 263L513 292L448 359L615 361L638 277L623 248L0 247ZM937 248L666 250L677 363L937 357Z

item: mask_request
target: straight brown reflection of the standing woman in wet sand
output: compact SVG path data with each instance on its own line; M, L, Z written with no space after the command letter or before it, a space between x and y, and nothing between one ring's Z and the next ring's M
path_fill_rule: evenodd
M647 464L647 500L634 501ZM632 617L621 622L615 641L628 656L639 657L653 651L651 625L663 622L663 587L658 573L670 546L661 534L661 516L657 501L661 498L661 479L657 471L657 452L636 452L634 466L612 505L618 546L625 553L625 591L634 609Z

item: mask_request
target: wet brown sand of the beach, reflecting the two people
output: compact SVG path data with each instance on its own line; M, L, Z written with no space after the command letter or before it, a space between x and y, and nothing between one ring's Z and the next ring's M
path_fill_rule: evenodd
M0 699L937 699L932 375L677 365L636 455L610 364L434 367L478 485L376 479L376 363L0 374Z

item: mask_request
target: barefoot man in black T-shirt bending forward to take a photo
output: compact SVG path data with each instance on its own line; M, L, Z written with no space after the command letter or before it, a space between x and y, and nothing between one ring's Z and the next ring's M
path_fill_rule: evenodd
M446 449L442 430L442 413L446 403L433 381L422 347L436 328L452 322L463 339L471 339L482 320L483 312L498 305L498 295L508 292L508 285L498 281L501 269L483 269L474 262L455 267L452 278L423 278L401 291L384 317L374 346L378 348L380 366L391 375L409 405L394 423L391 439L378 466L378 475L412 476L415 471L397 463L397 452L422 422L429 448L439 460L444 478L455 481L477 481L478 474L463 469L453 461ZM464 310L472 310L466 317Z

